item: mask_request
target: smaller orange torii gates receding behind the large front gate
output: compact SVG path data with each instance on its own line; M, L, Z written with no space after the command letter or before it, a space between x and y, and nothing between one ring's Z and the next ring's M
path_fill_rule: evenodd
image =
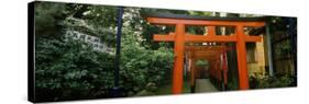
M227 65L227 51L231 50L232 47L225 47L225 46L186 46L185 50L189 55L189 68L190 68L190 84L191 84L191 91L195 92L195 78L196 78L196 68L195 63L197 59L207 59L210 61L212 65L210 67L216 67L217 69L213 70L213 68L210 68L209 72L211 76L214 76L218 80L222 80L222 74L223 74L223 82L224 85L228 83L228 65ZM222 55L222 61L220 60L220 56ZM218 61L222 62L222 69L218 69ZM221 70L223 73L221 73Z

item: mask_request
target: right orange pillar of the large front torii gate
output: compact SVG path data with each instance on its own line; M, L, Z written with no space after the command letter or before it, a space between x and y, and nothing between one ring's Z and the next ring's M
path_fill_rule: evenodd
M236 26L236 48L238 48L238 66L239 66L239 82L240 90L249 89L249 77L246 67L246 48L245 48L245 37L244 37L243 26Z

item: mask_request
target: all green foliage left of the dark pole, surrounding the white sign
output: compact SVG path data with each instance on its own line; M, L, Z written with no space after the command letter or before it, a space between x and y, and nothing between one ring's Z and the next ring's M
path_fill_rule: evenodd
M85 15L80 14L88 11L87 8L88 5L71 3L35 3L37 100L108 97L109 89L113 85L114 56L95 51L88 44L79 41L65 41L63 35L69 28L99 37L103 34L101 38L107 42L114 39L106 38L109 35L93 22L81 20Z

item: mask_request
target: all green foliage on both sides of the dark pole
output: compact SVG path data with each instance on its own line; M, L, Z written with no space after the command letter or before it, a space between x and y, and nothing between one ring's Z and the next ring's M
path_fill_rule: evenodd
M113 7L70 3L35 4L36 100L111 97L114 55L98 53L87 43L65 41L63 31L75 30L98 36L114 48L115 10ZM125 12L130 11L125 9ZM133 12L139 11L130 13ZM137 23L141 20L137 14L129 19L124 16L123 23ZM146 25L144 22L142 26ZM134 26L139 30L133 30L132 25L123 25L122 30L120 86L124 91L121 95L132 95L143 89L154 90L170 79L172 49L150 49L148 44L140 45L145 36L139 34L150 30L137 24Z

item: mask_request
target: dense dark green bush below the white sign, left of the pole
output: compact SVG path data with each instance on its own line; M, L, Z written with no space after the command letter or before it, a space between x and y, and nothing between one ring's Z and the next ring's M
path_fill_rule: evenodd
M35 88L45 91L37 95L54 91L60 91L54 97L64 100L104 95L112 86L112 70L113 56L86 43L36 39Z

